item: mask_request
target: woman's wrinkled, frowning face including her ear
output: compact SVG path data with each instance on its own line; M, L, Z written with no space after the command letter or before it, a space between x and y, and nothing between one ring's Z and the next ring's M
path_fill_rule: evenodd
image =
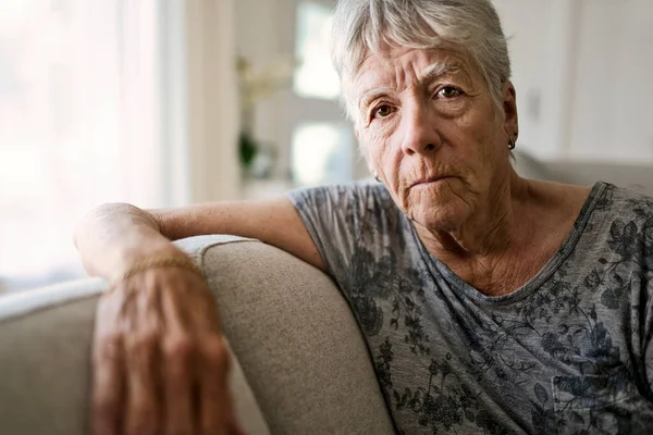
M497 114L464 55L389 49L366 59L349 92L364 154L409 219L454 229L501 195L517 133L512 84Z

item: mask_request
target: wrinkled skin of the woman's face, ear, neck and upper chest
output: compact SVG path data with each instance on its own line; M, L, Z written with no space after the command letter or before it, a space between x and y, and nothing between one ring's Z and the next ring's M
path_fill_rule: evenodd
M370 170L431 254L484 295L512 293L557 251L589 188L521 178L512 167L516 92L492 97L459 50L368 53L345 80Z

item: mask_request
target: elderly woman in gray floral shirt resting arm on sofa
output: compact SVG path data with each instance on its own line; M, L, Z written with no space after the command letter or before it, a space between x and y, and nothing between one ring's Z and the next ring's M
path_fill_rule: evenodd
M170 243L214 233L333 277L399 433L653 433L653 199L515 173L516 92L490 0L343 0L333 36L381 183L109 204L78 228L87 270L120 277L98 311L97 433L238 431L213 301Z

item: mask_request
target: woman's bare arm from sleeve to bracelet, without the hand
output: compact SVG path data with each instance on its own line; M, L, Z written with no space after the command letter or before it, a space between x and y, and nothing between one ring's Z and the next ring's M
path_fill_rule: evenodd
M170 240L207 234L257 238L324 268L301 219L285 197L151 211L125 203L104 204L81 222L74 241L86 271L111 278L155 253L181 253Z

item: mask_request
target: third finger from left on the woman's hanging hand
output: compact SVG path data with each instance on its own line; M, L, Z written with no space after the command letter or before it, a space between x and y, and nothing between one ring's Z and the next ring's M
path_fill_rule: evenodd
M195 423L193 386L194 343L175 334L163 344L164 424L167 435L193 434Z

